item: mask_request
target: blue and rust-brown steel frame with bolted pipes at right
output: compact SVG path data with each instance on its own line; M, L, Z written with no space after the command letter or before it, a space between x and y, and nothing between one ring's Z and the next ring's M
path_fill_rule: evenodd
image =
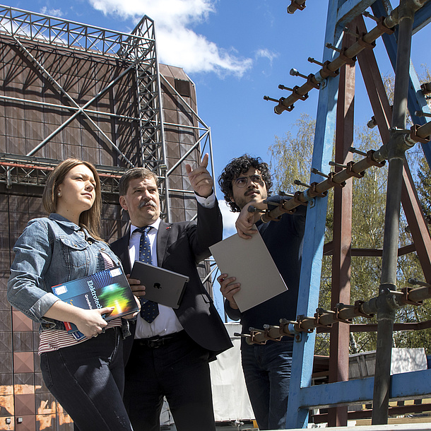
M290 13L305 7L305 0L292 0ZM301 7L297 7L301 6ZM372 8L373 15L366 11ZM289 11L289 8L288 8ZM367 31L362 16L374 20L372 30ZM309 408L329 408L326 419L329 426L346 425L348 405L373 402L372 425L386 424L388 420L389 398L396 400L423 398L430 394L431 370L390 375L394 310L402 307L399 301L403 291L413 293L411 288L396 289L396 261L399 254L407 249L418 253L427 283L430 283L431 237L427 229L413 179L405 160L405 152L420 142L431 165L429 146L431 122L430 109L425 100L429 93L428 84L420 85L418 76L410 62L411 36L431 20L430 0L400 0L400 5L392 10L388 0L329 0L326 20L325 47L321 70L304 76L295 69L293 76L306 78L301 87L295 86L288 98L279 100L274 111L293 110L293 103L306 100L309 90L319 89L317 122L314 136L312 177L305 191L297 191L295 199L283 203L283 208L268 212L268 218L276 218L283 211L291 211L300 203L309 203L305 226L302 254L302 268L297 305L297 321L283 321L280 326L268 326L256 331L254 342L274 339L281 335L294 335L293 366L288 398L287 428L307 427ZM386 51L395 71L394 107L391 109L382 78L372 49L375 40L382 36ZM379 126L383 145L379 150L365 154L352 148L353 106L355 95L355 61L361 66L367 93ZM411 114L415 125L406 130L406 111ZM373 117L373 119L374 119ZM331 161L333 136L336 136L335 162ZM365 156L354 163L352 153ZM351 199L352 191L347 180L362 177L370 165L382 166L389 161L388 187L386 194L386 217L384 226L384 246L382 249L382 277L379 296L368 302L350 302L350 256L351 249ZM328 172L328 166L335 166ZM323 181L321 177L326 177ZM333 242L327 244L333 254L331 311L318 308L321 276L321 256L324 254L324 228L326 222L326 193L334 187ZM320 198L320 199L319 199ZM398 249L398 223L400 204L403 204L408 220L413 244ZM346 208L348 207L348 208ZM358 255L369 250L357 250ZM376 252L376 250L374 250ZM427 286L419 281L409 283ZM424 299L429 299L428 295ZM346 305L347 303L347 305ZM363 312L362 305L372 305ZM419 305L413 299L405 304ZM335 306L334 306L335 305ZM361 311L359 311L359 309ZM314 314L314 310L316 313ZM348 341L353 317L377 315L377 354L374 377L348 380ZM312 317L313 316L313 317ZM327 319L327 320L325 320ZM307 323L308 321L308 323ZM331 360L329 362L329 384L311 386L314 358L315 328L331 328ZM425 322L425 324L428 324ZM350 326L350 328L349 328ZM427 325L424 325L426 327ZM368 329L370 330L370 328ZM394 413L396 414L396 413Z

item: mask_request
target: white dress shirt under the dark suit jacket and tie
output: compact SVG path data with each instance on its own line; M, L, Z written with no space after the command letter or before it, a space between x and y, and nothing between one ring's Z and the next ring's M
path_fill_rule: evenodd
M213 208L215 205L215 194L211 194L208 198L202 198L196 195L196 201L205 208ZM154 266L158 266L157 261L157 235L160 226L160 218L150 225L153 229L148 232L148 239L150 240L151 247L151 263ZM129 259L131 266L134 261L139 260L139 243L141 241L141 232L135 232L138 229L136 226L131 225L130 227L130 239L129 239ZM144 296L145 298L145 296ZM159 314L151 322L144 320L139 314L136 319L136 333L135 338L150 338L153 336L166 336L170 333L182 331L184 329L179 323L177 315L174 309L167 307L166 305L158 305Z

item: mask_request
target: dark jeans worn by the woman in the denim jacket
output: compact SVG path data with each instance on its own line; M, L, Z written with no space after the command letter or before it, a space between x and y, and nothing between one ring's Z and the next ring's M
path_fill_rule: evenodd
M73 419L74 430L132 430L122 400L120 327L76 346L42 353L40 367L47 388Z

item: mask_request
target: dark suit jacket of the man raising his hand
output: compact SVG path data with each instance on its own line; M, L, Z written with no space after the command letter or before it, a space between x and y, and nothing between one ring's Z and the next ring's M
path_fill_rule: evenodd
M196 221L160 222L157 234L158 266L189 276L179 308L174 309L187 334L214 358L232 347L230 337L213 300L201 283L196 265L211 256L208 247L223 237L223 223L217 203L214 208L198 204ZM112 251L122 261L124 272L131 272L129 261L130 228L126 235L111 244Z

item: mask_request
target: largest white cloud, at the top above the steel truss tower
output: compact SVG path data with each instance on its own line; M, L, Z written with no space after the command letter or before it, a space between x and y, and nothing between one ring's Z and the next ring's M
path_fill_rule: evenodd
M215 11L214 0L90 0L102 13L131 18L138 23L146 15L155 21L161 62L187 72L233 73L237 76L252 66L252 59L237 57L192 30Z

